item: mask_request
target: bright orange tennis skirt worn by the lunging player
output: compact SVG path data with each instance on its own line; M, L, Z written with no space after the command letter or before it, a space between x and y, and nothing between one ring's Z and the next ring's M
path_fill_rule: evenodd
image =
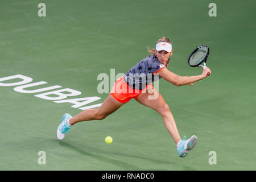
M115 81L115 84L109 94L112 95L115 98L115 100L117 100L118 102L126 103L126 102L129 102L131 98L136 99L139 96L139 94L141 94L143 91L146 91L145 89L147 89L148 86L153 86L153 85L148 84L142 90L132 89L126 83L123 76L121 76L117 79L117 81Z

